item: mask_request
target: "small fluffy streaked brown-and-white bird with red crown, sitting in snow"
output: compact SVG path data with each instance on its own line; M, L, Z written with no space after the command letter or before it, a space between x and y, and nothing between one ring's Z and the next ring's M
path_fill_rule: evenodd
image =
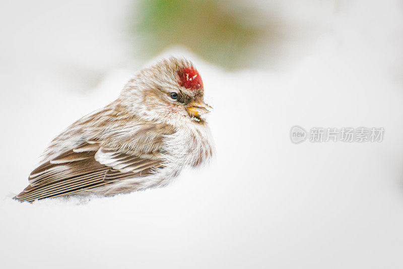
M160 60L137 72L115 101L61 132L14 198L112 196L165 186L184 167L212 157L205 118L211 109L189 60Z

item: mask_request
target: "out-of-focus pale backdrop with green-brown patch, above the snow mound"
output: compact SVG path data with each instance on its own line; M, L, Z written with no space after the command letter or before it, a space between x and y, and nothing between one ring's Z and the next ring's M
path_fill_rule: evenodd
M225 70L285 69L348 1L3 1L2 68L85 91L113 69L182 48Z

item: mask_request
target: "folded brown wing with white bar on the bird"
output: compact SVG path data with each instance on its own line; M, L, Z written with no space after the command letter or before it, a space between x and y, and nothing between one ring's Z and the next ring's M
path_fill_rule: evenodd
M111 184L124 178L142 177L161 168L152 160L104 149L86 142L40 165L29 176L29 185L14 198L32 202Z

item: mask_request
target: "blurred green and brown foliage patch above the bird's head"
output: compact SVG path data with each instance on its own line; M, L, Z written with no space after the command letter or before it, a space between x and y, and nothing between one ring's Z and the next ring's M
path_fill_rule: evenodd
M140 34L145 56L182 45L226 69L245 68L251 63L249 52L264 30L246 23L256 16L253 10L233 5L213 0L143 0L132 20L132 34Z

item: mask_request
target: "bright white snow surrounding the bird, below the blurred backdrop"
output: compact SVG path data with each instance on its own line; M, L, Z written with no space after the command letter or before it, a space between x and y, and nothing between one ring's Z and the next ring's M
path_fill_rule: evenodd
M215 108L217 155L161 189L12 200L47 143L112 101L131 71L109 71L85 93L47 73L3 72L0 265L401 268L403 24L389 4L352 5L283 72L226 73L193 56ZM384 127L385 137L295 145L295 124Z

